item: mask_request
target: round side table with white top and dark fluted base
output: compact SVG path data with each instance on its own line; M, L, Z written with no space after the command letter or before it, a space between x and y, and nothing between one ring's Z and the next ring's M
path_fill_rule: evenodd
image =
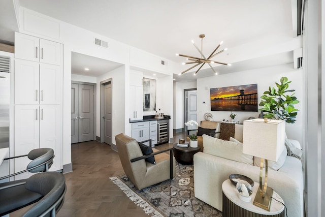
M222 216L223 217L284 217L284 205L271 199L270 211L253 205L256 193L258 192L259 183L255 182L252 188L253 194L250 202L244 202L239 199L235 185L229 180L222 183ZM283 203L282 198L273 191L273 196Z

